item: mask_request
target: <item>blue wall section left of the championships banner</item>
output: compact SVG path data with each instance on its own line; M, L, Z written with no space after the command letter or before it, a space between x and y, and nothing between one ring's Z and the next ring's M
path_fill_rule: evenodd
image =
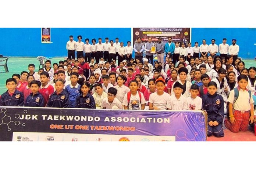
M85 38L101 37L105 42L105 37L115 42L131 40L131 28L51 28L51 44L41 43L41 28L0 28L0 54L4 56L46 56L46 57L63 57L67 56L66 43L69 41L69 35L82 35L82 41ZM96 43L97 43L96 42ZM90 42L90 44L92 44Z

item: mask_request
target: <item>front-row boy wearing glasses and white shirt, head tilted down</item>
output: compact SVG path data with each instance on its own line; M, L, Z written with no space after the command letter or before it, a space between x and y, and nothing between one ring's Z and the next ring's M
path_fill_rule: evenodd
M117 106L118 109L122 109L121 102L116 98L117 89L110 87L107 93L107 98L102 101L102 109L112 109L113 106Z

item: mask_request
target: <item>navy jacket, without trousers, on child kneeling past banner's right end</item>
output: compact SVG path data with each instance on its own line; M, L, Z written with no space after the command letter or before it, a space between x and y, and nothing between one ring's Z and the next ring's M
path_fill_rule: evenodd
M224 118L223 97L217 93L210 95L207 92L207 94L203 95L202 100L202 108L206 110L208 115L207 122L217 121L219 124L222 123Z

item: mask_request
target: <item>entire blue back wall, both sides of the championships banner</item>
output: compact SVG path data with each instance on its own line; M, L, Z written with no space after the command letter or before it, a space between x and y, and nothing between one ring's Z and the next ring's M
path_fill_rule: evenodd
M104 42L105 37L114 40L116 37L127 45L131 41L131 28L51 28L51 44L41 43L41 28L0 28L0 54L4 56L67 56L66 43L69 35L85 38L99 38ZM231 45L233 38L237 39L240 47L239 56L243 59L254 59L256 56L256 29L249 28L192 28L192 46L195 41L210 44L211 39L216 39L216 44L222 43L223 38Z

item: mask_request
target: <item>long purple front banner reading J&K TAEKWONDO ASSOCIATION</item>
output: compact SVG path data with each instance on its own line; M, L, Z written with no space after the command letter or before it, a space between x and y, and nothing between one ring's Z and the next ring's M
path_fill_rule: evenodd
M0 110L0 141L206 141L207 115L202 111Z

